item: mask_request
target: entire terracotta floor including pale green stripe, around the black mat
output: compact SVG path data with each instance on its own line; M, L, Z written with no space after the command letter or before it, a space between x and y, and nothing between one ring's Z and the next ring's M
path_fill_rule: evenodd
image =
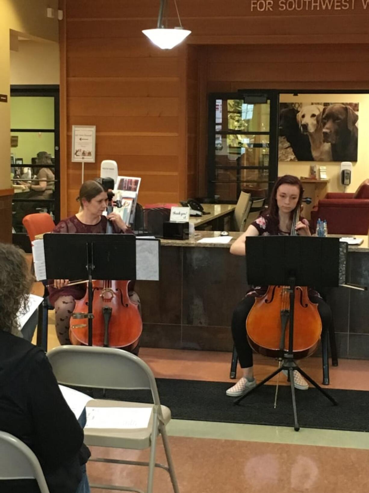
M38 284L38 283L37 283ZM42 290L35 285L35 292ZM58 346L54 313L49 313L49 349ZM229 379L228 352L142 348L140 357L158 378L223 381ZM277 367L256 355L254 371L263 379ZM319 384L321 358L301 361ZM369 390L369 361L340 359L330 365L331 388ZM238 370L238 378L240 370ZM280 384L285 384L281 377ZM271 383L275 383L272 381ZM328 387L328 388L329 388ZM172 456L181 493L366 493L369 490L369 434L334 430L254 426L172 420L168 425ZM157 462L164 462L158 439ZM327 446L329 445L329 446ZM92 456L147 460L148 452L91 447ZM126 484L145 489L143 467L88 463L91 483ZM98 489L92 488L92 493ZM106 490L108 491L108 490ZM112 491L112 490L109 490ZM156 470L154 493L172 492L169 475Z

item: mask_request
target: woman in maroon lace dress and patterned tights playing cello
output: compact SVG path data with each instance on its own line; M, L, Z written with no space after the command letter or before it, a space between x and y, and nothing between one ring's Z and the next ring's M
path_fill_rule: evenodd
M112 212L108 216L102 215L106 211L108 196L97 181L85 181L77 200L81 205L80 212L60 221L53 233L105 233L109 219L113 223L113 233L132 234L131 229L117 212ZM56 279L54 287L49 287L49 299L55 307L55 327L61 345L70 344L69 321L75 300L82 299L86 294L86 284L68 286L68 283L67 279Z

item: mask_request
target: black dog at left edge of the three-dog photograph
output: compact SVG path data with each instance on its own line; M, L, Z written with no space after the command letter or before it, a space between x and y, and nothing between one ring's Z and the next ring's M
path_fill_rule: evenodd
M312 161L310 141L307 135L300 132L297 122L298 110L283 108L279 112L279 135L285 137L291 144L293 153L298 161Z

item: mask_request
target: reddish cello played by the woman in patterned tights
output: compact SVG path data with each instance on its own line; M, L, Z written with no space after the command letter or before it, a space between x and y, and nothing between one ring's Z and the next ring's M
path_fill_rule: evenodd
M113 212L113 192L108 192L107 215ZM107 221L106 233L113 233L111 221ZM137 350L142 333L142 319L138 303L130 300L128 284L130 281L93 281L92 346L122 348L133 352ZM81 300L76 300L74 314L88 314L88 292ZM77 317L76 317L77 318ZM78 317L81 318L81 317ZM87 323L76 323L70 319L69 338L74 345L88 345Z

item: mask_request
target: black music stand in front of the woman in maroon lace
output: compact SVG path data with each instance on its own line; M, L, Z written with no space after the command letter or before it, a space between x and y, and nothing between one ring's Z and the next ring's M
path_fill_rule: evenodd
M136 238L134 235L49 233L43 240L48 279L88 280L86 317L89 346L92 346L92 279L134 281Z

